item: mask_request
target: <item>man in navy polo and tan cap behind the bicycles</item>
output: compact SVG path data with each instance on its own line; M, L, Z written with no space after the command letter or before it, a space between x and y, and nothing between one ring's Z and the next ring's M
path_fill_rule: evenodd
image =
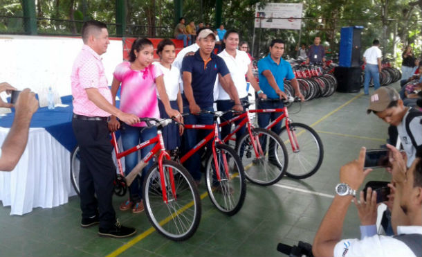
M214 84L217 76L221 86L235 101L233 109L242 111L237 89L233 84L230 72L223 58L212 53L215 46L215 35L210 29L201 30L198 35L199 50L194 55L185 56L182 62L183 73L183 112L196 114L201 110L214 111ZM185 116L185 124L211 125L211 114ZM194 148L196 143L209 133L208 130L185 130L185 152ZM196 152L187 159L184 166L190 171L198 185L201 181L201 157Z

